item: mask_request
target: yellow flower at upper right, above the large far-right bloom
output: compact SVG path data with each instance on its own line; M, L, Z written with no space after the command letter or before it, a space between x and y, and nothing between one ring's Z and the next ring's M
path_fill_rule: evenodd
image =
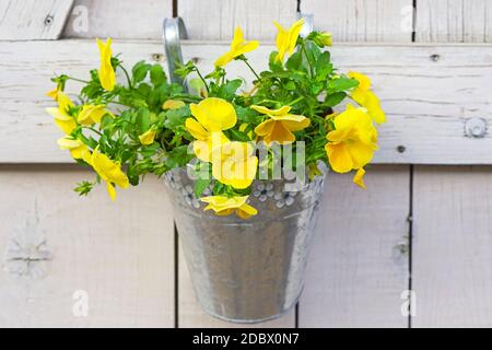
M366 108L374 121L377 124L385 122L386 115L380 107L379 98L370 90L371 80L366 75L358 72L349 72L348 77L359 81L359 86L355 88L350 95L353 101Z

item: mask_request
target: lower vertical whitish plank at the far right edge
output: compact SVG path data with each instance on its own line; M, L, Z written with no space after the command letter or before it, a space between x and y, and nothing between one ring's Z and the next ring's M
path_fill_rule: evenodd
M417 166L415 327L492 326L492 170Z

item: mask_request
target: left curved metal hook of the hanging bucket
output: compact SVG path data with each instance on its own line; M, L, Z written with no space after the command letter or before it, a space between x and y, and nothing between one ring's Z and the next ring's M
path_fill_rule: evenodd
M163 22L164 50L166 54L169 80L183 85L188 92L186 82L174 72L179 65L184 65L180 39L187 38L185 22L180 18L165 19Z

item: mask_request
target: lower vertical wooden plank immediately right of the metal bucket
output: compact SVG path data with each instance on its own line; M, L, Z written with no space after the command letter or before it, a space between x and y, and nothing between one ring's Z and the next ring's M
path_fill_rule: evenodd
M329 174L300 327L407 327L409 167L374 166L368 190ZM390 199L389 199L390 198Z

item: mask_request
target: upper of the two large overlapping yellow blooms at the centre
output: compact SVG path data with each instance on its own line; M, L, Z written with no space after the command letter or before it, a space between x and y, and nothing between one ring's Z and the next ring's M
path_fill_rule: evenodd
M204 98L198 105L191 104L190 109L196 119L187 118L185 127L196 139L195 154L210 162L212 149L229 142L222 131L236 125L236 110L232 104L216 97Z

